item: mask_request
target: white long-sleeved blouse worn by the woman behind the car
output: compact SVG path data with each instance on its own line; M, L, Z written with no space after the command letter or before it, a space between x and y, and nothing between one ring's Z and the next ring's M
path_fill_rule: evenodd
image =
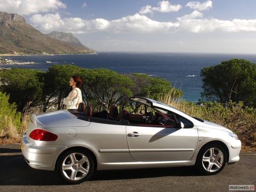
M77 87L69 93L69 95L63 99L63 104L67 105L67 109L77 109L79 103L82 102L81 90Z

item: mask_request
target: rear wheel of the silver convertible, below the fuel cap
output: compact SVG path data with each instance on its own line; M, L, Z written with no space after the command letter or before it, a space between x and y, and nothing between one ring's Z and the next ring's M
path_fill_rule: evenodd
M66 183L79 184L93 174L94 162L88 152L70 150L61 154L56 168L58 175Z

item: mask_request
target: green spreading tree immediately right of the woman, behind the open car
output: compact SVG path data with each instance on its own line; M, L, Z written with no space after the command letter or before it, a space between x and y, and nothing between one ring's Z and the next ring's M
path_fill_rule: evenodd
M131 79L108 69L83 69L82 93L86 97L87 105L93 108L108 109L110 105L118 103L123 106L132 95Z

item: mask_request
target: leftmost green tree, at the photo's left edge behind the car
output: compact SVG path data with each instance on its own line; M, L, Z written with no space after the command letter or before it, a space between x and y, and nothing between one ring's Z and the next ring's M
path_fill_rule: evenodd
M43 82L39 70L12 68L0 71L0 91L9 95L9 102L17 104L17 111L24 113L28 107L41 102Z

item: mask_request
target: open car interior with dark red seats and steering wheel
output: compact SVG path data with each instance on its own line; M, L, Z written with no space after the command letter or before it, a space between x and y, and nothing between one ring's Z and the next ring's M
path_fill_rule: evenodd
M145 106L140 114L129 113L125 109L119 112L116 105L111 105L109 112L106 110L92 111L90 106L80 103L78 109L69 109L68 111L76 115L78 119L105 124L181 128L179 122L182 121L185 128L193 127L192 122L176 114L164 114L159 111L152 111L152 108L150 108L151 111L148 110L149 108Z

